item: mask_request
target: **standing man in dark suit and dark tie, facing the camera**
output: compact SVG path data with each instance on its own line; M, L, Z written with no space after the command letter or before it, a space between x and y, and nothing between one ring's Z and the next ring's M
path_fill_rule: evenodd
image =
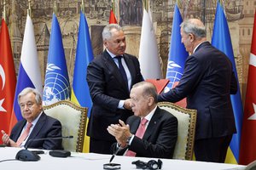
M110 124L126 121L132 115L129 94L131 86L143 81L135 56L125 54L125 34L119 25L102 31L106 49L87 67L87 82L93 102L87 129L90 152L109 154L115 139L107 131Z

